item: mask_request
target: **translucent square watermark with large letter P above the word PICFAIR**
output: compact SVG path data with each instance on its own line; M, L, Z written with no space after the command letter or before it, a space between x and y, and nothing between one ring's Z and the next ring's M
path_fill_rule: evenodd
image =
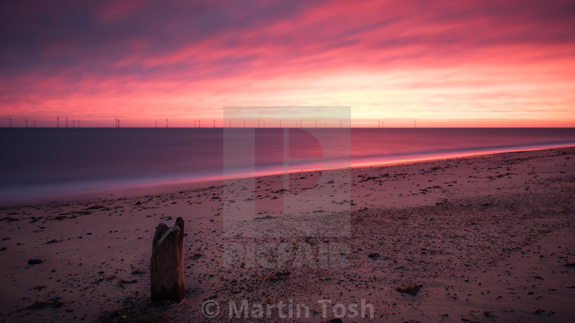
M350 113L349 106L224 107L224 234L349 236Z

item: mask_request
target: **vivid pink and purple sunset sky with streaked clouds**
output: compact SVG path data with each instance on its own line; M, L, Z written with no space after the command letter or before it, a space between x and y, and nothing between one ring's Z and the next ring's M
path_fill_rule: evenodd
M286 106L349 106L352 126L575 126L572 0L8 0L0 30L0 126L229 126L226 106L278 107L267 126L327 122Z

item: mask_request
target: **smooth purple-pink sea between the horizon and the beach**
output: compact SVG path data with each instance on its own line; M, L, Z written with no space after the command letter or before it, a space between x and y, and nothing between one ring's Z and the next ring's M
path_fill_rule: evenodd
M574 128L1 128L0 199L274 172L286 158L314 168L574 144Z

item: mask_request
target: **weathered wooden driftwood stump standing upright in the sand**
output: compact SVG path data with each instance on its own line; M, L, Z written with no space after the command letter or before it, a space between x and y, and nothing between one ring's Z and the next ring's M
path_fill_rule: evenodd
M185 294L183 282L183 220L171 227L160 223L152 240L151 263L152 303L169 299L181 302Z

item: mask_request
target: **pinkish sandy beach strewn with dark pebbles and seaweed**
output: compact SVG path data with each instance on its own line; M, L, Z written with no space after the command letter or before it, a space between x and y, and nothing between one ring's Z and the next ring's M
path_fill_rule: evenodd
M261 210L242 222L270 236L226 233L236 201L222 182L6 203L0 320L575 320L575 147L353 168L350 179L320 183L351 190L350 200L333 198L351 209L349 232L332 236L283 231L302 220L266 209L285 194L275 175L255 179ZM301 217L339 226L316 211ZM152 238L177 217L186 298L151 304ZM243 301L247 312L229 317ZM270 317L257 317L258 306Z

